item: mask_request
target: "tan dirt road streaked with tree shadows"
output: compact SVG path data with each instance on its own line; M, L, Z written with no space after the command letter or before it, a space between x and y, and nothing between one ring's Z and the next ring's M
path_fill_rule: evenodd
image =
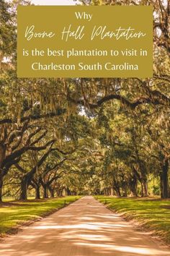
M0 255L170 256L170 252L87 196L6 238Z

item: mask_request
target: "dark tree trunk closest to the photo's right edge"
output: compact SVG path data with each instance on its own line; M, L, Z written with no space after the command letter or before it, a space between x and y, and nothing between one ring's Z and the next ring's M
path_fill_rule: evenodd
M160 173L161 179L161 198L169 198L169 160L165 159Z

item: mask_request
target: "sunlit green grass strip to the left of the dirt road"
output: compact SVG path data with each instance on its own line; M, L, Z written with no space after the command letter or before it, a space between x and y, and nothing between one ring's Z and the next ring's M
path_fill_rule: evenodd
M0 204L0 236L16 233L20 225L48 216L78 198L78 196L70 196L48 200L3 202Z

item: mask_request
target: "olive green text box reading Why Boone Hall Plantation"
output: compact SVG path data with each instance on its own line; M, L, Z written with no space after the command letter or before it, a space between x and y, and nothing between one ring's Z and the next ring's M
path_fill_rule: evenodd
M152 77L153 9L19 6L18 77Z

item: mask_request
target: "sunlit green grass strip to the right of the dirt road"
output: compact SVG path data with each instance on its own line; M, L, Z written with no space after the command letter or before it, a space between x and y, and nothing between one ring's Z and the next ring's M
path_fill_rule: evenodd
M170 200L133 197L96 197L109 209L122 213L128 220L138 221L143 228L170 244Z

